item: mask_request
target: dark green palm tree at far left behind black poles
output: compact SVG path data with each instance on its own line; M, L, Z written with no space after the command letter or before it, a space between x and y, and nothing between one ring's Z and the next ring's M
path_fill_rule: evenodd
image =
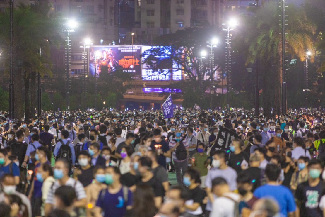
M26 118L34 114L32 107L35 105L32 103L30 106L29 87L32 87L32 102L35 102L36 82L34 79L30 85L29 80L35 78L37 73L42 76L52 75L50 48L63 42L60 35L63 29L62 19L58 14L49 14L50 8L47 1L42 1L38 6L20 4L14 11L15 60L23 60L23 67L14 69L17 118L24 116L24 103ZM0 47L4 47L5 51L9 50L9 25L9 13L6 11L0 14Z

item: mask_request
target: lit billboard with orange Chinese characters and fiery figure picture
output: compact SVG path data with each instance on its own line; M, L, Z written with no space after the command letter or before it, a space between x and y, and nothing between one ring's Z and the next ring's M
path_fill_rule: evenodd
M91 47L89 54L89 74L101 73L101 67L114 69L117 65L123 67L125 72L141 75L141 47L140 46L98 46Z

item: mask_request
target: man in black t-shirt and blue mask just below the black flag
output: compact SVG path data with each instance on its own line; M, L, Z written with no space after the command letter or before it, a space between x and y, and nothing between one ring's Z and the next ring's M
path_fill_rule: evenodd
M249 156L241 150L241 146L243 145L244 142L242 140L234 139L229 147L230 155L228 165L236 170L237 174L242 171L242 168L246 169L249 162Z

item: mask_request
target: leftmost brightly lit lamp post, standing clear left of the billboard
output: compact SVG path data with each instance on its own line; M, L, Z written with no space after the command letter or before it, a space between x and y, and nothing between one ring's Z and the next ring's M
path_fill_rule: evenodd
M66 53L67 53L67 110L70 109L70 49L71 49L71 42L70 42L70 32L74 32L74 28L77 26L77 23L75 20L69 20L68 21L68 28L66 29L67 32L67 47L66 47Z

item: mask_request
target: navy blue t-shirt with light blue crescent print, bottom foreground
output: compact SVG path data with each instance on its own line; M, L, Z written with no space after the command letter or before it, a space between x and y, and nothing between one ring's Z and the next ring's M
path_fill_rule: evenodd
M102 194L105 194L102 196ZM102 190L98 195L96 206L102 208L104 217L124 216L126 207L132 205L132 193L127 192L127 202L123 197L123 187L116 194L110 194L107 189Z

